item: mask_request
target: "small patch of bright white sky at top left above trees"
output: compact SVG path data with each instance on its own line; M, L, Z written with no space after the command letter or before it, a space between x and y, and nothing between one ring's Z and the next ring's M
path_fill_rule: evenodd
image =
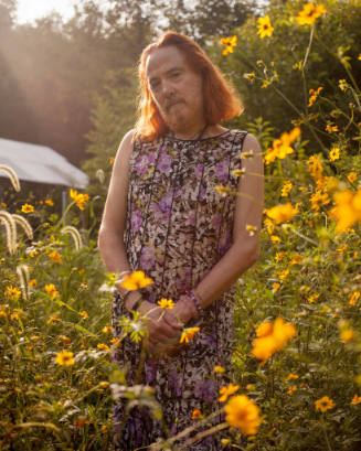
M18 22L34 23L35 19L43 18L52 11L63 15L64 20L73 15L73 4L76 0L18 0Z

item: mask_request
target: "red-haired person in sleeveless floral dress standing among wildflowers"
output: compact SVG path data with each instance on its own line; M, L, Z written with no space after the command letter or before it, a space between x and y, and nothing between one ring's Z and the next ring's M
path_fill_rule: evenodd
M147 449L192 425L195 432L177 443L221 450L217 437L194 438L197 418L222 408L224 376L214 367L231 371L234 283L258 258L249 229L261 228L262 150L249 133L221 125L242 103L189 37L168 32L147 46L139 79L139 119L115 159L98 245L109 271L152 279L141 290L117 286L116 336L119 319L135 310L148 333L141 343L124 339L114 359L130 386L155 388L162 418L120 399L115 447ZM210 425L220 421L222 412Z

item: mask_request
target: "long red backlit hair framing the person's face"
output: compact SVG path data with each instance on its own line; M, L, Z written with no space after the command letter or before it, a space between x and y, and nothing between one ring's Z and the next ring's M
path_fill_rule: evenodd
M200 45L183 34L167 32L157 42L149 44L140 55L138 75L141 93L139 117L135 128L135 136L140 140L158 139L169 131L152 99L146 77L146 63L151 52L171 45L183 52L188 64L202 76L204 118L208 125L224 122L243 111L242 101L235 89Z

